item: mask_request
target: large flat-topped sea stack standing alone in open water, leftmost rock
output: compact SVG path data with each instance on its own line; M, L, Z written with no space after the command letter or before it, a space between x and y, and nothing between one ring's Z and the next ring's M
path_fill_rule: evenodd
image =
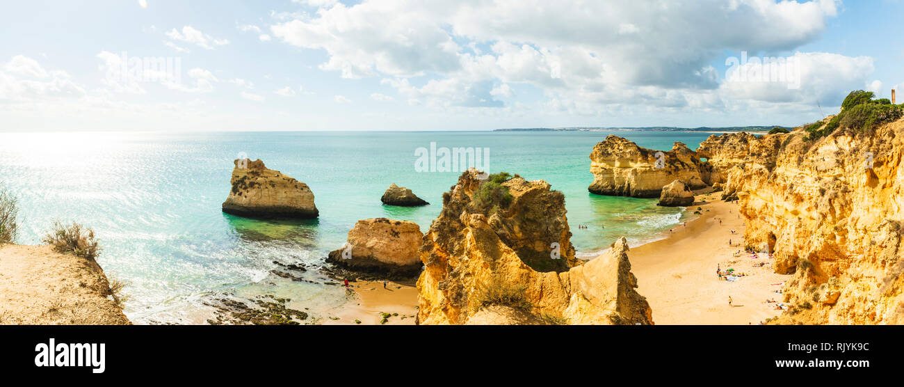
M319 214L307 184L268 169L260 159L233 163L232 189L223 212L260 219L310 219Z

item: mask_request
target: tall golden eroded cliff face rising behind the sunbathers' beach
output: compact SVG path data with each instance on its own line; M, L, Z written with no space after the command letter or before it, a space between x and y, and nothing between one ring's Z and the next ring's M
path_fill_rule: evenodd
M730 168L725 184L748 249L773 251L774 269L793 273L777 323L904 323L904 121L805 135L777 135L773 156Z

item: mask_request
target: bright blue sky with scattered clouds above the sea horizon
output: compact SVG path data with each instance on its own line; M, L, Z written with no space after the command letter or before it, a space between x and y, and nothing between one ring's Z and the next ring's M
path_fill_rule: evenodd
M0 8L0 131L798 126L904 86L900 0Z

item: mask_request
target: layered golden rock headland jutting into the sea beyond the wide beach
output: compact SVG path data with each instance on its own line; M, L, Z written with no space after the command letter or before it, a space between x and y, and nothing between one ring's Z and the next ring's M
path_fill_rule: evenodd
M590 152L591 193L659 197L663 187L675 180L696 190L706 187L710 167L683 143L662 152L637 146L626 138L609 135Z

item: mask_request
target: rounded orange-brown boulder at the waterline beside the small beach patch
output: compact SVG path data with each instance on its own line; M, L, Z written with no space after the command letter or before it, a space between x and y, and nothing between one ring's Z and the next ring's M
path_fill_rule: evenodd
M354 223L345 246L331 251L326 261L377 277L412 278L423 266L419 255L423 237L415 222L364 219Z

